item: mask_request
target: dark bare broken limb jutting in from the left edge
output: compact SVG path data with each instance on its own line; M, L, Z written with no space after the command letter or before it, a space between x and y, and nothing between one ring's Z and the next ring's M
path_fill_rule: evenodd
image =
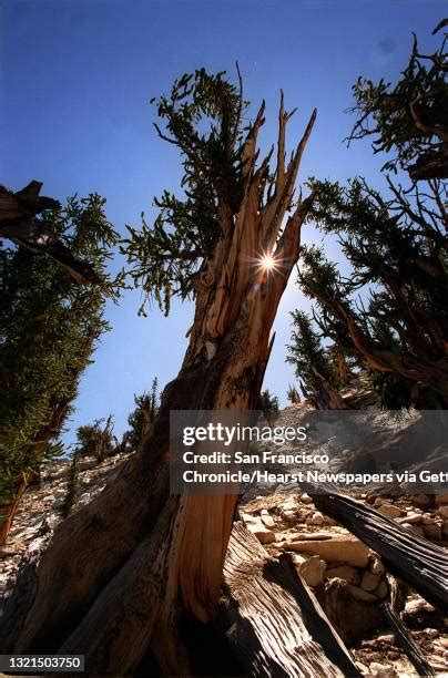
M52 230L35 223L37 214L60 207L58 201L39 195L41 187L35 181L17 193L0 186L0 237L34 254L48 255L79 284L100 282L90 264L74 257Z

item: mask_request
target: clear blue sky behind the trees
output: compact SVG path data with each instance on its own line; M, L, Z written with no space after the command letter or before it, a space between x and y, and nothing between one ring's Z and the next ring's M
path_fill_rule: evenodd
M312 109L318 120L302 178L346 179L363 174L378 183L381 158L368 144L342 143L352 120L350 86L359 74L395 80L407 62L411 31L431 49L431 29L444 2L354 0L3 0L1 183L18 189L30 179L44 195L64 201L96 191L108 199L115 228L139 225L152 198L176 189L175 151L152 127L151 96L173 79L205 66L234 73L238 60L245 95L266 99L266 145L275 140L279 89L298 106L289 125L297 141ZM312 227L306 242L318 236ZM112 412L121 433L133 393L175 377L186 347L192 306L173 305L165 319L153 309L138 318L140 296L108 309L113 330L85 373L73 428ZM294 284L278 310L276 345L265 386L286 402L294 382L284 363L288 310L304 306Z

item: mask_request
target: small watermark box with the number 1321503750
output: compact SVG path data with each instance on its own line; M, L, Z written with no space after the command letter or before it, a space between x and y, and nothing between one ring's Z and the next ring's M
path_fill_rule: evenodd
M0 655L0 671L9 674L84 672L84 655Z

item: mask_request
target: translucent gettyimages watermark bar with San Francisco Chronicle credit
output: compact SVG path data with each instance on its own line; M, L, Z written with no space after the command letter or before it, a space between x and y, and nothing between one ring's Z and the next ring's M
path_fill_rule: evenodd
M173 494L262 485L448 491L445 410L308 410L276 421L262 412L172 411L170 448Z

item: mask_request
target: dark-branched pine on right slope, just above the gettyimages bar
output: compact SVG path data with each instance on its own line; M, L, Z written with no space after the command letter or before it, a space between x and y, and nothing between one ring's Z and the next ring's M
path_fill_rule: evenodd
M364 181L312 182L312 218L337 234L352 265L344 278L316 247L304 248L299 284L323 335L369 370L380 404L448 405L446 212L440 182L383 197ZM356 296L358 295L358 299Z

